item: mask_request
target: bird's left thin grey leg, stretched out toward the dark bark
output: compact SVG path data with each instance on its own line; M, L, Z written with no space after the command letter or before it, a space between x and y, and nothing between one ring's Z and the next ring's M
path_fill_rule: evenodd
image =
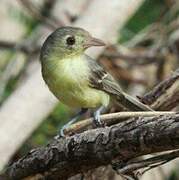
M75 122L78 120L78 118L79 118L80 116L82 116L83 114L85 114L87 111L88 111L87 108L82 108L81 111L79 111L67 124L65 124L65 125L60 129L60 136L62 136L62 137L65 136L64 130L65 130L66 128L68 128L71 124L75 123Z

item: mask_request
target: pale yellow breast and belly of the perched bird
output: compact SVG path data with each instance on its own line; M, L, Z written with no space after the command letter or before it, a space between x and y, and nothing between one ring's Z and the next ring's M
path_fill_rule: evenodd
M51 59L42 64L42 74L53 94L73 107L96 108L108 105L109 96L89 86L90 69L85 59Z

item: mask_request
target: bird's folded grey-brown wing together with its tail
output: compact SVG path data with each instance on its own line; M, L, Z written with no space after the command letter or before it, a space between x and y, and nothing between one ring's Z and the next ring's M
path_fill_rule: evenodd
M152 111L150 107L124 93L117 81L105 69L89 56L85 56L90 68L90 86L102 90L117 100L120 105L129 110Z

